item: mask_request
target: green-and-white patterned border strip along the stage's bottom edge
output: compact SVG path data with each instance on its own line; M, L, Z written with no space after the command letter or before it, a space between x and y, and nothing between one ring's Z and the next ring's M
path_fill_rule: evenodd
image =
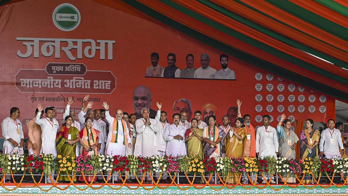
M60 188L64 188L65 186L58 186ZM85 188L86 186L79 186L79 188ZM94 186L98 187L98 186ZM114 187L114 186L112 186ZM115 188L118 188L119 186L116 186ZM135 186L131 186L132 188L135 188ZM277 186L272 186L273 188L281 188L282 186L277 185ZM7 188L13 188L13 186L9 186ZM42 189L48 189L50 186L42 186ZM151 187L147 187L151 188ZM183 187L184 188L184 187ZM214 186L214 188L219 189L221 186ZM191 187L188 190L180 190L179 188L175 186L171 186L167 189L159 189L155 188L153 190L145 190L143 188L138 188L136 190L131 190L128 189L127 187L122 187L119 190L113 190L109 187L103 187L98 190L94 190L92 188L88 188L85 191L80 191L76 187L70 186L66 190L59 190L57 188L53 188L48 192L42 191L39 188L17 188L14 191L7 191L4 188L0 189L0 195L60 195L64 194L65 196L68 195L226 195L226 194L232 194L232 195L269 195L269 194L282 194L282 195L291 195L291 194L332 194L332 195L342 195L342 194L347 194L348 193L348 186L343 186L341 188L337 188L335 186L331 186L330 188L321 188L321 187L316 187L314 189L307 189L304 188L303 186L299 186L298 188L290 188L290 187L284 187L280 191L275 191L272 190L270 187L266 187L264 189L258 189L258 188L253 188L250 190L246 190L241 186L237 186L233 189L228 189L224 188L219 191L215 191L211 189L210 187L205 187L203 189L196 189Z

